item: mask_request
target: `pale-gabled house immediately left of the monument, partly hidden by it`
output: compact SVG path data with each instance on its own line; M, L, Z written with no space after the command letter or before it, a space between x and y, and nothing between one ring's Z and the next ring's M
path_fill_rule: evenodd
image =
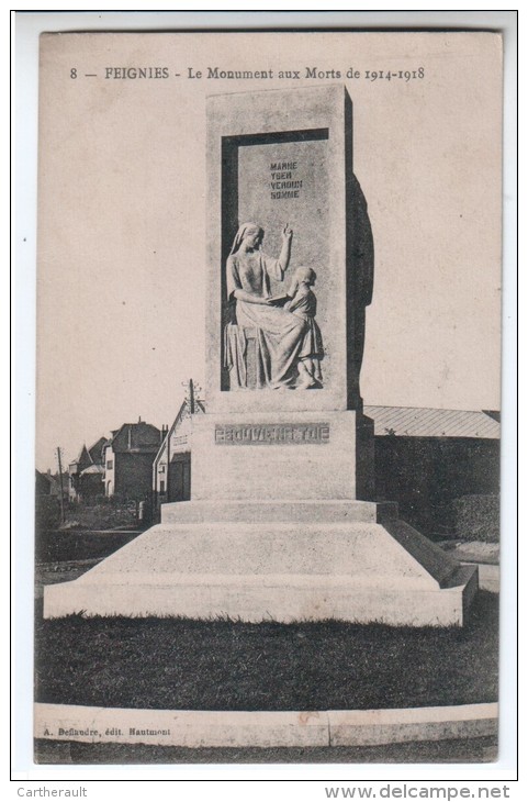
M193 410L191 412L191 409ZM186 399L164 439L153 465L154 505L191 498L192 415L205 412L200 400Z

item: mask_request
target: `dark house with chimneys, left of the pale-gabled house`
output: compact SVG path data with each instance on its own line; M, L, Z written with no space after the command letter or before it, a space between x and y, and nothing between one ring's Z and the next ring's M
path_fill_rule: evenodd
M139 417L112 432L103 447L104 494L124 501L149 501L153 463L165 432Z

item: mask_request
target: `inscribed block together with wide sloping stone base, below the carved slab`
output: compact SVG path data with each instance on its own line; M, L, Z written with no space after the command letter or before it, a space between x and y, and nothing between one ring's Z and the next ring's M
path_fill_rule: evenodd
M193 500L164 504L161 524L46 588L45 617L462 625L476 568L400 521L396 504L358 498L372 445L356 412L196 416Z

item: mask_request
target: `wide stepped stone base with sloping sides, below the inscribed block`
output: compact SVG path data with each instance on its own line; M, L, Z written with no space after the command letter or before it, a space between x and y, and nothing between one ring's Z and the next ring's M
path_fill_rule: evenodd
M461 626L478 569L367 501L164 505L151 527L74 582L44 616L229 616L248 622Z

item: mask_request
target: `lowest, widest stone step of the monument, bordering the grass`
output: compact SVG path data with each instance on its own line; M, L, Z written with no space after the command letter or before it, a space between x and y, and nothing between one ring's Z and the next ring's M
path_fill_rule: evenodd
M91 572L90 572L91 573ZM232 617L262 621L384 623L403 626L462 626L478 589L475 567L464 566L450 588L432 589L383 577L369 583L342 576L252 576L122 572L85 575L75 582L46 588L45 617L83 611L86 615ZM359 579L359 578L356 578ZM165 580L165 581L164 581Z

